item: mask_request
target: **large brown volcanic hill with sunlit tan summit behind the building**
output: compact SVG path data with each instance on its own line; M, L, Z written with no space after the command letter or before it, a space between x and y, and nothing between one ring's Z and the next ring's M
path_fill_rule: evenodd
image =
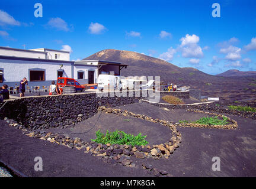
M93 59L120 61L128 64L127 69L121 70L122 76L161 76L164 82L189 80L191 76L204 79L216 77L194 68L181 68L159 58L132 51L107 49L84 58L84 60Z

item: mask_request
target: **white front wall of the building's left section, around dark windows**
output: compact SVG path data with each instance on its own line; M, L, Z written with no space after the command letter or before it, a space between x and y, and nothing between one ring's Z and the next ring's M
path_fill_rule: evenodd
M28 69L45 69L45 80L57 80L60 64L63 64L64 77L72 77L71 63L0 59L0 68L4 69L4 82L20 82L24 77L30 82Z

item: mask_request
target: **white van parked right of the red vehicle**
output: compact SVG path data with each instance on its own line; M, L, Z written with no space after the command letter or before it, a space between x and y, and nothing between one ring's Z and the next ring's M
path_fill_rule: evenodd
M100 74L98 76L98 90L103 90L104 87L109 87L114 90L122 90L122 83L119 76Z

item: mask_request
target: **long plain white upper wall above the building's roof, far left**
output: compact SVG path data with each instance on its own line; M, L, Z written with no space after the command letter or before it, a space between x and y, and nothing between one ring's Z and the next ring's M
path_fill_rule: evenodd
M8 49L3 49L3 48L0 48L0 55L12 56L12 57L41 58L41 59L46 58L45 53L19 51L19 50L8 50Z

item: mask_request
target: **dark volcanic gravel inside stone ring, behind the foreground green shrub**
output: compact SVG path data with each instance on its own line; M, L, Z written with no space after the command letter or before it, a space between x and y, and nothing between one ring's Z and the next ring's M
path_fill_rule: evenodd
M46 131L68 134L72 138L78 137L89 142L91 139L95 139L95 132L99 129L103 133L107 130L113 132L118 129L119 131L124 131L135 136L142 133L143 136L147 135L146 141L149 142L149 145L164 144L172 137L171 129L167 126L142 119L107 113L97 113L95 116L77 123L74 128L55 128L47 129Z

